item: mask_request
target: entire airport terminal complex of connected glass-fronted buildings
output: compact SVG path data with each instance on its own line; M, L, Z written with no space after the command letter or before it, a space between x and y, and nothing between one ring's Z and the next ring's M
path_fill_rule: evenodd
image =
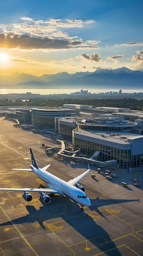
M64 108L11 108L7 118L18 118L21 124L32 124L37 130L61 135L63 139L73 141L74 151L80 149L87 157L97 152L100 161L117 160L117 167L122 169L143 166L143 112L119 109L113 115L108 113L92 118L79 116L81 108L93 110L95 106L68 104ZM133 121L131 116L134 116Z

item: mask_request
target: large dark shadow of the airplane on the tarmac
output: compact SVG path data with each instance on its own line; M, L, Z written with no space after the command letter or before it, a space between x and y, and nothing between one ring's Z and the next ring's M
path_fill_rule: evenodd
M98 207L103 207L111 204L135 202L135 201L139 201L139 200L120 200L120 199L106 200L106 199L96 198L96 199L91 199L91 206L89 208L91 211L98 211L97 215L103 217L104 218L103 222L105 223L105 221L108 221L108 220L98 210ZM66 213L65 211L63 211L63 206L65 205L67 206ZM57 208L58 210L56 210ZM78 234L80 234L85 238L85 239L81 238L81 240L90 240L90 243L92 244L92 246L98 246L101 251L103 252L105 250L108 251L108 249L110 250L111 248L116 247L116 245L112 241L107 231L103 229L101 225L97 224L98 221L95 222L95 220L90 215L80 211L79 205L75 202L72 202L67 197L64 197L61 195L59 196L55 195L52 197L50 204L43 205L38 210L32 205L26 205L26 209L28 211L28 214L26 216L14 219L12 221L4 222L0 224L0 226L13 225L13 224L18 225L18 224L24 224L26 222L34 223L35 221L37 221L40 224L40 226L46 230L46 227L44 226L44 223L43 223L44 221L61 217L68 225L70 225L70 227L75 229L75 231L77 231ZM92 215L92 212L91 212L91 215ZM64 225L64 222L63 222L63 225ZM106 223L104 225L106 226ZM93 239L93 238L96 238L96 239ZM98 241L98 239L100 238L101 240ZM106 248L105 248L103 243L105 243L106 241L111 241L111 242L106 244ZM110 251L106 252L106 255L110 255L110 253L111 253ZM118 248L114 249L114 255L118 255L118 256L121 255Z

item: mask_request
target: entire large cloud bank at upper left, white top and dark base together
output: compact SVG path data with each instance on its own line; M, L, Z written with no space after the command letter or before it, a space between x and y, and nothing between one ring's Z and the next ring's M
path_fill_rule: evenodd
M23 16L23 22L0 25L0 47L20 49L97 49L100 41L84 41L78 36L69 36L67 32L58 30L58 27L76 28L85 27L95 20L33 20Z

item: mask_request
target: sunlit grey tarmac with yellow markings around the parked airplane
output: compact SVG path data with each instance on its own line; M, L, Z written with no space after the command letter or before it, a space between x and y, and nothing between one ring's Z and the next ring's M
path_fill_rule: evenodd
M29 168L30 147L39 167L51 164L48 170L65 181L86 171L86 164L47 157L42 143L56 142L46 136L14 128L13 122L0 118L0 187L46 186L34 173L12 170ZM52 196L51 203L43 205L39 193L26 202L22 192L0 191L0 256L143 256L143 170L112 171L118 177L106 180L105 169L101 174L97 167L91 169L80 182L91 201L84 212L66 196Z

